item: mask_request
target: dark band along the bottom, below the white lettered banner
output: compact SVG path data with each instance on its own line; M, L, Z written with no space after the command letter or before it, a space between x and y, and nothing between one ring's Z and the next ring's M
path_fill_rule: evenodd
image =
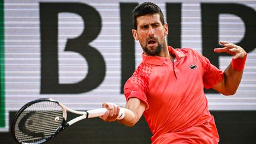
M215 117L220 136L220 144L256 143L256 111L210 111ZM9 113L10 120L15 112ZM68 114L68 119L76 114ZM11 124L11 121L10 121ZM152 133L144 117L134 127L126 127L117 122L106 123L99 118L87 119L63 130L47 143L95 143L113 144L151 143ZM15 143L11 133L0 133L0 143Z

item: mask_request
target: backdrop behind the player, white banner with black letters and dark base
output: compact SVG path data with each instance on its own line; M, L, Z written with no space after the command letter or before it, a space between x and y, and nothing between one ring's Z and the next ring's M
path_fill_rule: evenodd
M75 110L124 106L123 85L142 60L132 37L132 10L141 2L0 0L0 143L15 143L11 121L37 98ZM213 52L219 40L248 52L235 95L205 92L220 143L256 143L256 1L151 2L165 15L169 46L191 47L222 70L232 56ZM144 118L135 127L95 118L49 143L151 143L151 136Z

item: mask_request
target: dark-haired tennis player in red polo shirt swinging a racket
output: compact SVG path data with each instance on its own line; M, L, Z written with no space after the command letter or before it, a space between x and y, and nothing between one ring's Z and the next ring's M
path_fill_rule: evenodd
M125 116L117 121L134 126L145 116L152 143L218 143L203 87L223 95L235 94L247 53L235 44L220 41L224 47L214 51L233 55L231 65L222 72L193 49L167 46L168 25L161 9L151 2L134 9L133 24L133 37L142 46L143 60L124 85ZM115 121L119 106L104 103L103 107L109 111L101 119Z

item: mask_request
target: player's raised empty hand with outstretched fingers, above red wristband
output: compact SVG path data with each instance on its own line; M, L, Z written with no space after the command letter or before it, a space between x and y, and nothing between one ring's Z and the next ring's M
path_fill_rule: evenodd
M224 47L214 49L216 53L229 53L233 55L233 59L243 58L247 53L242 47L237 46L236 44L229 43L228 41L220 41Z

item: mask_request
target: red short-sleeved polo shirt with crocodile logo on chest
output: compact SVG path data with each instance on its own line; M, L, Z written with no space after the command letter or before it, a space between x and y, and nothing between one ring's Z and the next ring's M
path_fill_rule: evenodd
M152 143L217 143L219 136L203 88L212 88L223 72L193 49L173 49L166 57L142 54L142 63L124 85L126 100L146 104L143 113Z

